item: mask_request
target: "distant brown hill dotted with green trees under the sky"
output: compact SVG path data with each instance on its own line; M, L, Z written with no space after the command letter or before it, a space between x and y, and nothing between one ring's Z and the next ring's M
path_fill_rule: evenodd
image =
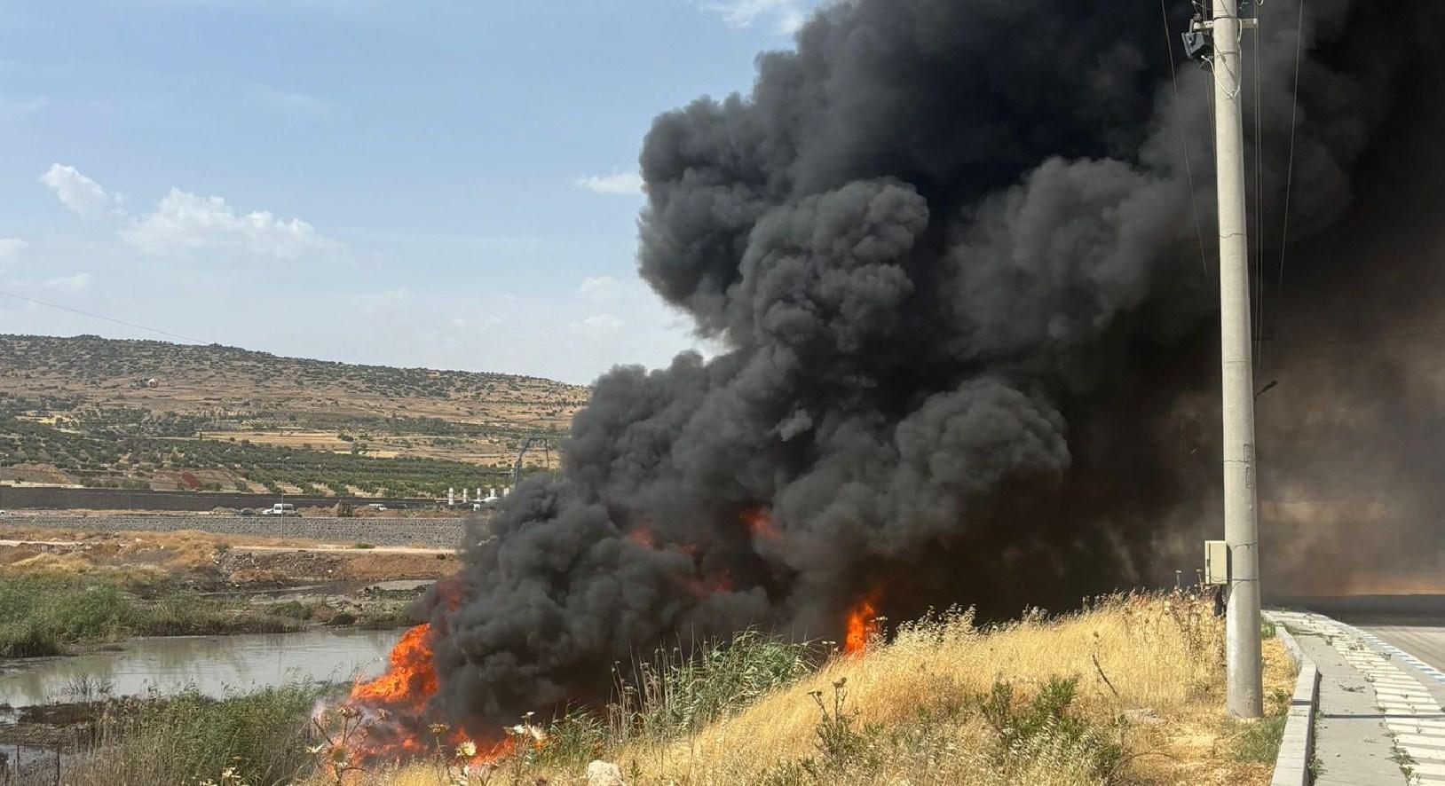
M584 386L221 345L0 335L0 483L439 494L552 452Z

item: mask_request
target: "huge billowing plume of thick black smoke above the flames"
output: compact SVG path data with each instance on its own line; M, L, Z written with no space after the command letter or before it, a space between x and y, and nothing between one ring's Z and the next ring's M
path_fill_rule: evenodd
M1182 140L1209 260L1214 172L1209 75L1169 84L1170 6L1166 39L1147 3L857 0L763 55L749 95L660 116L640 273L727 351L598 380L562 475L522 484L435 603L434 708L597 701L616 660L744 626L837 637L871 590L894 617L1010 613L1194 565L1218 322ZM1439 81L1439 4L1371 6L1309 4L1296 241L1345 231L1400 139L1381 129ZM1263 6L1274 220L1296 10ZM1367 277L1367 246L1296 251L1290 280Z

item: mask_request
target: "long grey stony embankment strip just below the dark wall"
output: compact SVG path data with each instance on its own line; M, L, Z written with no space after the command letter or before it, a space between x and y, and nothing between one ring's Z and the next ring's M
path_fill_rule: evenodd
M426 546L454 549L465 532L462 519L334 519L312 516L9 516L4 526L51 527L77 532L178 532L194 529L218 535L303 537L324 543L374 546Z

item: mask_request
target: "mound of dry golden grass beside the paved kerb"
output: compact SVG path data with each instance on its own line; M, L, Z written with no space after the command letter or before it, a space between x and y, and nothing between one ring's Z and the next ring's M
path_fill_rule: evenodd
M1224 718L1222 670L1222 623L1181 595L1108 598L988 630L954 614L903 626L887 646L832 659L695 735L613 744L601 756L634 786L1267 783L1267 764L1235 757L1244 725ZM1077 679L1058 724L1017 735L990 715L997 686L1012 686L1022 711L1056 678ZM1292 679L1267 640L1266 695ZM584 767L506 761L488 783L584 783ZM409 767L358 783L447 782Z

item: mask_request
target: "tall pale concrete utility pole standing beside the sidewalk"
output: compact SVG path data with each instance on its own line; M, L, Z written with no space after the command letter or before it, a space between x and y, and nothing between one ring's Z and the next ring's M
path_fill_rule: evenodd
M1225 617L1228 711L1263 714L1260 673L1259 501L1254 474L1254 367L1244 207L1244 23L1238 0L1214 0L1214 105L1220 192L1220 337L1224 370L1224 542L1230 594Z

